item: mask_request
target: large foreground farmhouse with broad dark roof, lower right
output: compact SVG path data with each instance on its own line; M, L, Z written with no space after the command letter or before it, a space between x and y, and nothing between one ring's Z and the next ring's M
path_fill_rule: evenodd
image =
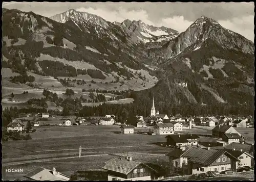
M201 174L208 171L222 172L232 168L236 170L233 163L239 161L236 157L225 150L212 150L208 148L191 147L182 154L188 159L188 174Z

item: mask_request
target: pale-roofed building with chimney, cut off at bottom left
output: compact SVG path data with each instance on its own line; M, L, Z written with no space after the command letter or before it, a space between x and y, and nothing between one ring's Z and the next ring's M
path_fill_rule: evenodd
M60 172L56 171L56 168L53 168L53 170L49 170L43 167L38 167L31 171L30 173L25 175L26 178L29 180L48 180L48 181L68 181L70 179L69 176L62 174Z

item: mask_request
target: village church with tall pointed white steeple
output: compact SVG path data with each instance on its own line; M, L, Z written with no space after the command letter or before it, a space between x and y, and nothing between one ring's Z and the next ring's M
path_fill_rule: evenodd
M154 122L162 124L162 123L166 122L167 120L168 120L168 122L170 122L169 118L166 114L159 114L159 111L156 112L154 97L153 97L153 105L151 108L151 115L148 116L146 119L147 119L147 122L150 124L152 124Z

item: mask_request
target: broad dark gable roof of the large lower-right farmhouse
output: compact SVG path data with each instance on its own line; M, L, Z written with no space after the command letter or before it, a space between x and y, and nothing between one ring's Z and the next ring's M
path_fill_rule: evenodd
M222 154L225 154L229 158L239 161L236 157L225 150L208 150L205 148L197 147L189 148L181 156L188 158L188 162L209 166L214 163Z

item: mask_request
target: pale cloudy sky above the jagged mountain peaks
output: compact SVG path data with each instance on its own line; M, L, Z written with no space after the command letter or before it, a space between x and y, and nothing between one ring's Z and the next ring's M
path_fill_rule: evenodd
M218 21L224 28L254 41L254 3L181 3L181 2L3 2L3 8L33 11L51 17L69 9L96 14L108 21L142 20L156 27L167 27L179 32L202 15Z

